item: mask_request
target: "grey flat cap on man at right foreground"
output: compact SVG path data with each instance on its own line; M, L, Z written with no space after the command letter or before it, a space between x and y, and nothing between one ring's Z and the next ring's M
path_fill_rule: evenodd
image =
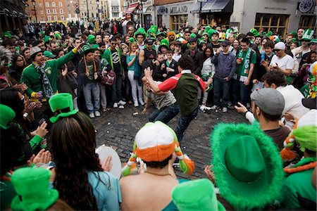
M276 89L264 88L254 91L250 98L264 113L268 115L282 115L285 99Z

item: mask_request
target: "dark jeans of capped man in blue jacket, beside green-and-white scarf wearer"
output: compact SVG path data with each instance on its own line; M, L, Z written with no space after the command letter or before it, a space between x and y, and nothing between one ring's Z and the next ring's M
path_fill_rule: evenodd
M221 106L228 108L228 101L230 96L230 82L225 79L214 77L213 80L213 101L216 106L220 106L220 95L223 92L223 101Z

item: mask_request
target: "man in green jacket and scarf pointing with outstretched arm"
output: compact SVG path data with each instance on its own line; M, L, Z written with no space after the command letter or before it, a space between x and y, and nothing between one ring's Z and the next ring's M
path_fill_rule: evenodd
M48 61L45 61L43 51L38 46L30 49L32 64L23 70L20 81L27 85L25 93L30 96L30 101L42 101L42 108L34 110L35 120L39 120L44 114L51 116L48 101L58 92L58 68L71 60L82 44L78 44L65 56Z

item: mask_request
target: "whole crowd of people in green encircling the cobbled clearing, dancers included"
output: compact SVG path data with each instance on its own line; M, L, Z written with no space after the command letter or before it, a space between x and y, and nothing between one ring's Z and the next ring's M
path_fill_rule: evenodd
M1 210L316 210L313 30L123 34L120 22L2 34ZM95 152L91 119L128 105L154 111L120 179ZM180 145L199 109L237 110L250 124L213 129L209 180L178 179L175 162L194 172Z

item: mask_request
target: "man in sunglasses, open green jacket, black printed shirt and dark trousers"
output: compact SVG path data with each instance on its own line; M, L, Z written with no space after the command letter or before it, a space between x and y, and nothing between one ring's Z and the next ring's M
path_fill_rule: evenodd
M104 51L104 58L111 64L111 69L116 73L116 79L112 84L113 108L118 108L118 106L124 108L125 101L122 100L121 87L125 79L125 71L123 70L122 52L120 49L116 49L116 44L116 37L113 37L110 46Z

